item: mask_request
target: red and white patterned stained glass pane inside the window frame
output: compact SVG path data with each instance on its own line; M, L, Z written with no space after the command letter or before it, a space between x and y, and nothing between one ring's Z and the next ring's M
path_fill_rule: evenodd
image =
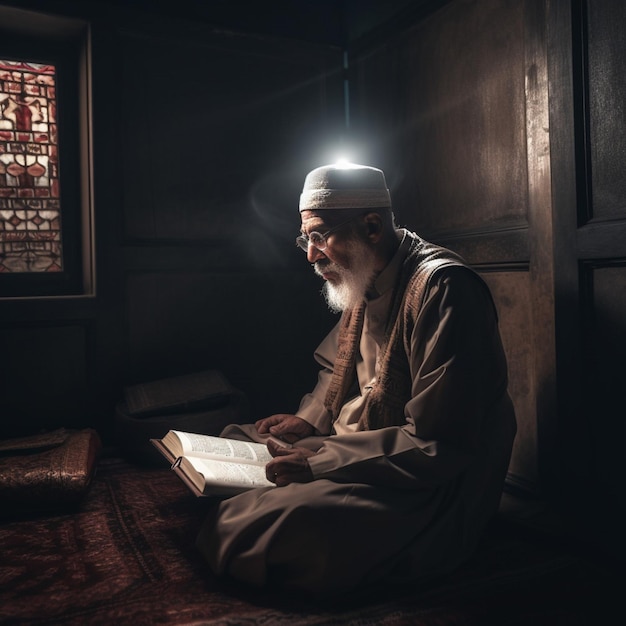
M54 65L0 59L0 273L63 271Z

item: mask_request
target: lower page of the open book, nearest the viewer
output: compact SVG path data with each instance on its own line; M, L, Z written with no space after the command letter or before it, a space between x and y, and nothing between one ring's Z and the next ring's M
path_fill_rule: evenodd
M191 466L203 480L194 479ZM265 477L265 466L250 465L248 463L234 463L230 461L216 461L200 457L183 457L181 469L185 471L198 489L203 493L236 493L254 487L275 487L276 485Z

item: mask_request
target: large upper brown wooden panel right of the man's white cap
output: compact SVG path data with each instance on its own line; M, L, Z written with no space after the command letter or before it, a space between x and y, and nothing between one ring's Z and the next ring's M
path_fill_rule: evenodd
M526 225L524 17L521 2L452 2L352 63L363 143L419 232Z

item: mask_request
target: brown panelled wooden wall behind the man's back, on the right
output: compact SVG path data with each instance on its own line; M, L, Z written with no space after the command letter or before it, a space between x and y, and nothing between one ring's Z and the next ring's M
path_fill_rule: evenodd
M399 221L494 293L509 484L622 554L625 17L617 0L459 0L351 54L353 141L388 172Z

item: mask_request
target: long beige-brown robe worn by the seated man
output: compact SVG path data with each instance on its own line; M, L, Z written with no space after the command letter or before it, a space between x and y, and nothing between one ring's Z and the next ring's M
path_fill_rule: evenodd
M296 412L319 433L301 442L318 450L315 480L216 504L198 547L217 574L324 596L426 580L465 560L496 511L516 426L491 297L473 272L442 269L429 286L408 350L406 425L356 430L408 247L399 234L366 307L358 388L334 424L324 397L336 328L315 353L318 383ZM223 435L263 440L252 425Z

